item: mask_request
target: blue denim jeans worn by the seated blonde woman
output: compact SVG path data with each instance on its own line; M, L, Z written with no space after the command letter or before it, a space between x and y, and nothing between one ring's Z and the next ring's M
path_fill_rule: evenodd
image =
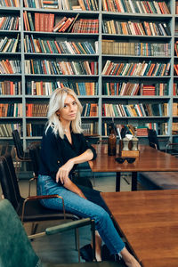
M76 193L67 190L65 187L53 181L53 178L50 176L39 174L37 179L38 195L60 195L64 199L66 212L77 214L82 218L90 217L93 219L95 221L96 230L99 231L101 239L109 248L110 254L119 253L125 247L125 243L119 237L114 224L110 219L109 213L104 209L105 204L103 200L100 196L97 197L97 195L100 195L100 192L92 189L87 189L86 192L85 187L78 187L83 190L87 199L81 198ZM97 202L98 205L92 201ZM41 200L41 203L47 208L62 210L62 202L60 198L43 199Z

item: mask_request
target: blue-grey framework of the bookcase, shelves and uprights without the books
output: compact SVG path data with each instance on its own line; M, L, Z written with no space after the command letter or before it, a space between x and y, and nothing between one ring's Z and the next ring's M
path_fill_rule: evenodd
M84 0L85 1L85 0ZM94 0L94 2L97 0ZM140 102L143 103L167 103L168 105L168 115L167 116L150 116L150 117L114 117L114 121L116 124L127 124L132 123L135 126L144 125L146 123L155 123L155 124L167 124L168 130L165 134L158 134L161 138L168 138L170 141L173 140L175 135L172 134L172 124L178 122L178 116L173 116L173 104L174 102L178 102L178 96L173 95L173 87L174 84L178 84L178 76L175 76L174 73L174 64L178 64L178 56L174 53L174 44L178 41L178 15L174 12L175 0L168 0L166 4L170 10L170 14L167 13L139 13L139 12L107 12L102 8L101 2L97 1L99 10L98 11L88 11L88 10L59 10L59 9L44 9L44 8L27 8L22 4L23 1L20 2L20 7L8 7L1 6L0 14L3 16L11 16L11 17L20 17L20 30L2 30L0 29L0 39L3 39L4 36L7 38L17 38L19 37L19 49L16 53L10 52L0 52L0 62L2 60L9 61L20 61L21 62L21 73L11 73L4 74L1 73L0 66L0 103L21 103L22 104L22 117L1 117L1 124L19 124L23 129L22 133L22 141L24 145L24 149L26 149L28 142L40 139L40 136L29 136L29 128L36 124L44 125L46 122L46 117L27 117L27 106L28 104L47 104L49 101L49 95L46 92L41 93L30 93L27 87L30 87L32 84L37 86L36 83L43 83L43 86L49 86L50 90L53 91L54 86L63 86L69 85L73 86L74 90L77 90L78 98L80 99L82 105L90 105L94 104L97 106L98 114L97 116L82 116L82 123L90 128L95 129L101 137L106 137L106 134L103 134L103 124L109 123L113 118L112 117L104 117L102 116L102 104L138 104ZM113 3L115 0L112 1ZM125 2L125 1L124 1ZM130 1L126 1L128 4ZM132 2L132 1L131 1ZM148 1L147 1L148 2ZM69 3L72 5L79 5L77 0L69 0ZM104 3L104 2L103 2ZM118 1L119 3L119 1ZM35 15L36 13L40 14L53 14L54 22L53 26L55 26L59 20L64 17L67 18L76 18L77 20L99 20L99 28L98 33L73 33L73 32L49 32L49 31L36 31L36 30L26 30L24 24L24 12L30 13L32 18L32 23L34 24L35 29ZM134 32L131 34L108 34L103 32L102 22L103 21L119 21L119 22L134 22L134 23L142 23L147 21L148 23L165 23L166 27L170 30L170 35L134 35ZM29 21L30 22L30 21ZM92 28L92 26L89 26ZM30 25L31 28L31 25ZM177 34L177 35L176 35ZM57 42L88 42L91 43L95 53L31 53L25 51L25 38L28 36L32 36L34 39L40 38L45 41L57 41ZM165 54L129 54L129 51L122 54L120 53L103 53L102 45L104 42L116 42L116 43L144 43L146 44L168 44L169 45L169 53ZM95 50L95 42L97 43L97 51ZM102 44L103 43L103 44ZM0 47L1 48L1 47ZM32 50L31 50L32 51ZM71 62L71 61L88 61L88 62L97 62L97 70L98 74L94 75L67 75L67 74L27 74L25 72L25 61L55 61L55 62ZM153 62L160 64L170 63L170 69L167 75L163 76L147 76L147 75L104 75L103 68L105 66L106 61L113 61L114 63L139 63L139 62ZM20 82L21 83L21 94L3 94L1 93L1 82L12 81L12 82ZM32 84L30 84L32 83ZM45 84L46 83L46 84ZM89 89L89 93L83 94L86 92L88 88L88 84L93 84L91 86L94 89ZM115 90L116 87L122 86L123 84L138 84L139 91L135 95L119 95L118 93L112 93L112 95L107 95L104 91L105 85L111 86L114 84ZM80 85L82 84L82 85ZM81 87L80 87L80 86ZM42 87L43 87L42 86ZM155 88L166 88L160 89L162 91L161 95L142 95L141 90L144 86L152 86ZM41 88L42 88L41 87ZM43 87L43 88L44 88ZM84 87L84 88L83 88ZM95 87L97 88L95 90ZM119 87L119 88L120 88ZM78 89L79 88L79 89ZM84 91L82 91L83 89ZM42 90L42 89L41 89ZM88 89L87 89L88 90ZM93 91L92 91L93 90ZM94 91L95 90L95 91ZM156 90L156 89L155 89ZM164 91L165 90L165 91ZM177 91L178 92L178 91ZM43 94L43 95L42 95ZM47 94L47 95L45 95ZM87 112L86 112L87 113ZM89 114L89 113L88 113ZM106 126L106 125L105 125ZM178 123L177 123L178 126ZM33 131L32 131L33 132ZM96 134L96 133L94 133ZM12 140L12 137L0 137L0 140Z

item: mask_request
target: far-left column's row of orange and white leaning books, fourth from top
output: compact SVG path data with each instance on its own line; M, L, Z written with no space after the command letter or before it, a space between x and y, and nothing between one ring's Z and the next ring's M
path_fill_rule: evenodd
M0 61L0 74L18 74L21 73L20 61Z

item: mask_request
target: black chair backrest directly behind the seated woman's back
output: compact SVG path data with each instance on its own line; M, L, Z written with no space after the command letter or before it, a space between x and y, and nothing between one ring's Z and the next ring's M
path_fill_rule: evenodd
M32 160L33 171L36 176L38 175L39 171L40 147L41 147L40 142L31 143L29 145L29 155Z

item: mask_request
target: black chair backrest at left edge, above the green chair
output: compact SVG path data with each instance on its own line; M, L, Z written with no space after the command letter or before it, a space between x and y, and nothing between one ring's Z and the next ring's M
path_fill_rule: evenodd
M12 156L10 154L5 154L0 157L0 182L4 198L9 199L12 206L17 209L21 196Z

